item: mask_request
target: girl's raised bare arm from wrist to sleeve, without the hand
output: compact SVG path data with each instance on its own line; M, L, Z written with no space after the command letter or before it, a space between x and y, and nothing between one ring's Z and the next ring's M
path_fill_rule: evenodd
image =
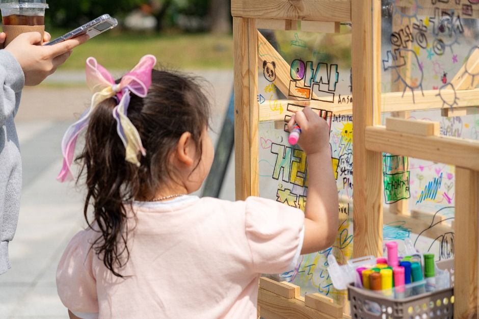
M305 241L302 253L325 249L334 243L338 228L338 193L329 149L308 154L308 198L305 229L311 240Z

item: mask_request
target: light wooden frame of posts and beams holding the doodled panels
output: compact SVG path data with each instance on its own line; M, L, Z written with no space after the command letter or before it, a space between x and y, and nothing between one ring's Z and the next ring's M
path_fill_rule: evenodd
M431 7L431 0L418 2L423 8ZM450 4L440 2L437 6L460 8L454 1ZM455 237L454 315L456 318L476 317L479 308L479 142L434 135L420 136L413 131L397 132L380 126L382 108L384 111L439 109L437 104L428 100L428 96L437 93L430 91L424 91L425 97L415 104L407 103L410 98L407 93L403 98L399 98L401 94L397 92L386 93L390 96L382 104L381 43L376 40L381 38L381 0L232 0L231 12L234 41L236 199L243 200L259 194L258 123L262 113L256 101L257 19L261 19L261 26L272 23L276 26L284 25L285 28L292 25L288 21L297 20L352 21L354 103L346 108L344 105L341 108L333 105L332 108L336 108L336 114L351 114L351 111L354 114L354 256L382 254L383 152L455 165L454 227L459 235ZM477 11L474 11L473 16L479 16ZM460 97L457 108L470 107L469 101L476 99L479 89L465 87L464 79L458 76L453 81L457 81L459 88L464 89L457 91ZM390 98L394 94L398 95L397 99ZM278 295L279 297L281 296ZM265 309L262 315L267 318L281 317L280 310L279 313L273 310Z

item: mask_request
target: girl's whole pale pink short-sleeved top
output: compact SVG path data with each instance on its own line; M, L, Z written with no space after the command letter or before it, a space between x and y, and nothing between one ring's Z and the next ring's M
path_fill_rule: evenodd
M77 233L66 248L57 288L76 315L256 318L260 274L291 270L303 242L303 212L273 200L185 196L134 207L124 278L90 249L97 232Z

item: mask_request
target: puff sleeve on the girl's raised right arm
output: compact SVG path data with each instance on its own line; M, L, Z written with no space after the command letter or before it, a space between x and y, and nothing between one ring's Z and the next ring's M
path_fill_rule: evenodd
M253 270L264 274L292 270L303 246L303 211L270 199L249 197L245 214Z

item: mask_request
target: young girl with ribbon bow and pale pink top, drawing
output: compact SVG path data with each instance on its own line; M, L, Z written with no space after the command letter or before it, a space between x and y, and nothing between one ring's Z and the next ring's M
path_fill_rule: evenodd
M301 126L308 155L305 213L257 197L188 195L213 160L208 101L195 78L152 70L155 63L146 56L115 83L87 61L96 93L64 137L59 178L71 177L87 127L78 161L89 227L60 260L58 293L71 318L256 318L260 274L292 270L300 254L335 240L328 125L309 108L288 124Z

